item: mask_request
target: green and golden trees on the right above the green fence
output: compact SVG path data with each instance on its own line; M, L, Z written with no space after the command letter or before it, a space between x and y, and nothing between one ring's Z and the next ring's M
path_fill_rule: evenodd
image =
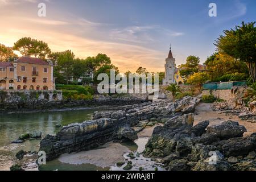
M256 27L255 22L242 22L231 30L224 30L214 43L216 52L205 60L207 69L200 71L200 59L188 56L180 65L180 75L187 84L202 85L204 82L256 81Z

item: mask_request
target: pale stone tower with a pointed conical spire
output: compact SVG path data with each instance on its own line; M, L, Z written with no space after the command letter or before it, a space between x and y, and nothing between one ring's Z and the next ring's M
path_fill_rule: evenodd
M163 85L175 84L174 75L175 75L176 64L175 64L175 58L174 56L172 56L171 46L170 46L170 51L164 67L165 67L165 75L163 78Z

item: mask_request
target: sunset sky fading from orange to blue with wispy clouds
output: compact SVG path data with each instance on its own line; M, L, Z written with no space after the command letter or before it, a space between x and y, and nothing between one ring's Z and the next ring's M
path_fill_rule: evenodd
M38 16L38 3L47 16ZM209 17L209 3L217 17ZM256 1L0 0L0 43L30 36L52 51L71 49L85 58L106 53L121 72L164 71L170 43L176 64L189 55L201 63L225 29L256 19Z

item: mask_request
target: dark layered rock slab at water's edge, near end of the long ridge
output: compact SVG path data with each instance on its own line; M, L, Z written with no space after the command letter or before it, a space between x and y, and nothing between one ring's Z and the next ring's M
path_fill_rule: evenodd
M45 151L47 160L52 160L64 153L99 147L106 142L118 139L118 137L122 139L137 138L137 133L131 128L126 128L125 131L122 128L122 120L110 118L73 123L64 126L56 136L47 135L40 142L40 151ZM119 130L122 130L123 133L120 133Z

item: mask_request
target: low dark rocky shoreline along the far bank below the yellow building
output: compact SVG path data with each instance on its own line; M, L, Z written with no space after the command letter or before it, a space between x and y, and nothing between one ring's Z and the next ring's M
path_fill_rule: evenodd
M0 100L0 114L5 113L36 113L39 111L51 110L72 110L85 107L97 106L124 106L135 105L148 102L147 98L141 97L96 97L93 100L63 100L63 101L47 101L47 100L24 100L17 98L15 101Z

